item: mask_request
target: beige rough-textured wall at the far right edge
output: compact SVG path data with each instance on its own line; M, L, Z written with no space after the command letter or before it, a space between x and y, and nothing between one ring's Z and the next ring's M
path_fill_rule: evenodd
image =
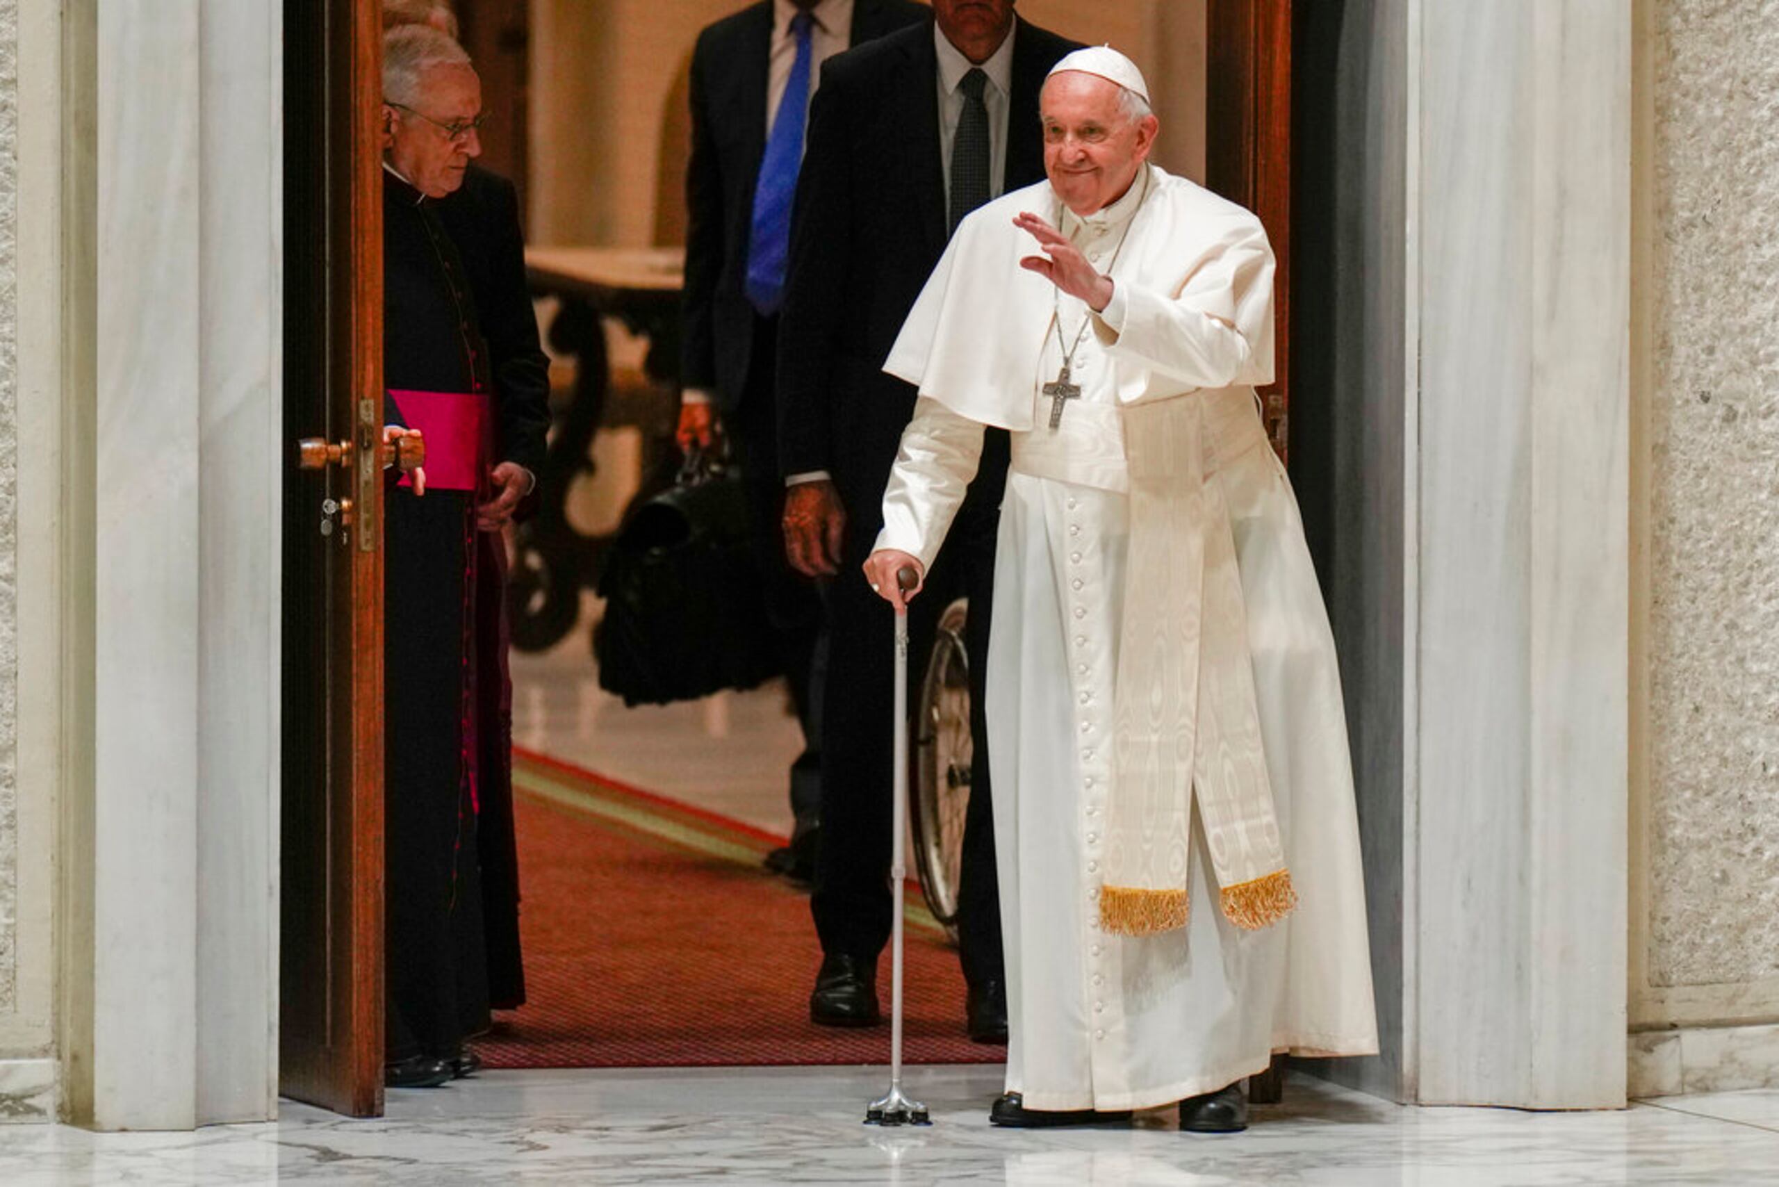
M1779 1020L1779 25L1638 0L1637 80L1631 1023L1763 1023Z

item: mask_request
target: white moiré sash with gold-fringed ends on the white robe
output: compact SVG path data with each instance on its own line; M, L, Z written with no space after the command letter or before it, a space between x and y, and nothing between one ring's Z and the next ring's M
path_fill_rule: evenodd
M1130 561L1115 687L1101 924L1185 927L1192 808L1238 927L1297 904L1254 703L1229 509L1211 475L1267 448L1251 388L1124 409Z

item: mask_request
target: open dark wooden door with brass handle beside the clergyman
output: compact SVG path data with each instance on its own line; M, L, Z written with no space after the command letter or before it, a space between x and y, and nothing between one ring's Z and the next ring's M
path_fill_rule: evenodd
M352 1116L382 1112L381 28L285 0L279 1089Z

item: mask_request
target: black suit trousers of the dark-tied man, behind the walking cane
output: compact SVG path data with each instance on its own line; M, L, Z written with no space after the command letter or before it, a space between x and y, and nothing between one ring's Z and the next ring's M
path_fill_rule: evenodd
M1002 461L1005 468L1005 461ZM964 979L971 986L1002 981L1000 899L994 881L994 817L984 676L989 609L994 594L994 536L1000 491L973 489L959 511L927 584L909 603L909 712L939 616L970 598L964 648L970 653L970 731L975 739L970 810L964 819L957 931ZM849 500L849 514L854 511ZM840 577L827 594L829 676L822 739L822 847L809 909L822 952L873 963L890 940L891 737L895 705L895 612L872 593L859 571L875 543L875 509L852 516Z

